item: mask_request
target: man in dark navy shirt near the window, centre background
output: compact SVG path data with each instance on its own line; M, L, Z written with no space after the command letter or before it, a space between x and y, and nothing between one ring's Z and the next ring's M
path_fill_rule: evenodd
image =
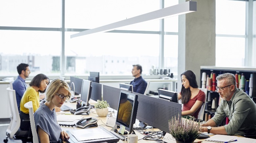
M147 82L142 78L141 73L141 65L133 65L132 74L135 77L135 79L131 81L130 85L133 85L133 92L144 94L147 88Z

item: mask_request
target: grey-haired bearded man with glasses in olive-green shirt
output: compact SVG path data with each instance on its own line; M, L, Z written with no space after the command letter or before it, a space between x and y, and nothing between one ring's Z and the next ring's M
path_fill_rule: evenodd
M213 118L202 124L202 132L219 135L256 134L256 105L241 89L236 87L234 74L224 73L216 77L221 103ZM229 123L217 127L228 117Z

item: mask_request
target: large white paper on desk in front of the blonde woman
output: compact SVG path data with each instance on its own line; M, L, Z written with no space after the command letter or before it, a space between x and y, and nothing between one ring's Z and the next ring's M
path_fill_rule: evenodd
M82 130L71 130L70 133L75 136L77 141L93 140L101 138L111 138L112 136L106 134L101 128L90 128Z

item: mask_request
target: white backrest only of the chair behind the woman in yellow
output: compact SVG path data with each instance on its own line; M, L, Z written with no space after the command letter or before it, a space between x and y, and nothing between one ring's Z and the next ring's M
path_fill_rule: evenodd
M10 89L10 87L6 88L8 92L8 100L11 107L11 122L8 126L6 132L10 134L10 138L14 139L13 136L19 130L20 127L20 115L19 110L16 102L16 94L15 90Z

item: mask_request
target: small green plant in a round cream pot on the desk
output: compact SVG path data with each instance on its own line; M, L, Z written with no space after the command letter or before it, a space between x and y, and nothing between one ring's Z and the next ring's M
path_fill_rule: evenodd
M94 104L94 107L96 108L96 113L99 117L106 117L108 115L109 104L107 101L97 100L97 103Z

